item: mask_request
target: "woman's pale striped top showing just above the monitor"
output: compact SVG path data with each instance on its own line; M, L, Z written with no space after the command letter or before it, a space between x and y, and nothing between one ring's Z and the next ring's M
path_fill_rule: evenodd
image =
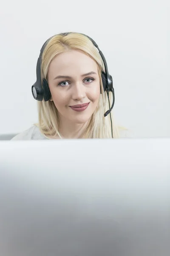
M130 138L128 131L120 131L121 138ZM44 134L40 132L40 129L33 125L28 130L23 131L20 134L17 134L11 140L51 140L50 138L46 137Z

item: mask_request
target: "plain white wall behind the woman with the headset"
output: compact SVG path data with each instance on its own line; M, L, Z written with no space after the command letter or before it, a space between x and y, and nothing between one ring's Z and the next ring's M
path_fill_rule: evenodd
M163 0L8 0L0 8L0 134L37 122L31 94L42 44L75 31L105 55L114 113L134 137L170 137L168 9Z

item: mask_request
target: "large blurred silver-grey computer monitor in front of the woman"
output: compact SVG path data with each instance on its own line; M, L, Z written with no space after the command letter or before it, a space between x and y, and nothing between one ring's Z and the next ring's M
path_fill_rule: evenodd
M169 252L170 139L0 142L0 255Z

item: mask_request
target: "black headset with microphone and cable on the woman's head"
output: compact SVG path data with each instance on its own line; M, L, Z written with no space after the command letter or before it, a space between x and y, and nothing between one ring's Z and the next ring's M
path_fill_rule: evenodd
M70 33L77 33L77 32L65 32L65 33L60 33L59 35L66 36L66 35L68 35ZM82 33L78 33L78 34L82 34ZM82 35L85 35L85 34L82 34ZM51 38L53 38L54 36L52 36ZM115 95L114 95L114 88L113 88L113 79L112 79L112 76L109 75L109 73L108 73L108 65L107 65L105 56L103 55L103 53L99 49L98 45L88 35L85 35L85 36L87 38L89 38L90 41L94 44L94 46L98 49L99 54L102 57L102 60L103 60L104 66L105 66L105 73L102 71L102 74L101 74L103 90L108 95L108 101L109 101L109 92L112 92L112 94L113 94L113 102L112 102L112 105L110 107L110 101L109 101L109 110L104 113L104 116L107 116L110 113L110 118L111 118L111 111L113 109L114 102L115 102ZM44 100L46 102L46 101L49 101L51 99L51 92L50 92L50 89L49 89L49 86L48 86L48 81L46 79L43 79L42 82L41 82L42 53L43 53L43 51L45 49L45 46L47 45L48 41L51 38L49 38L47 41L45 41L45 43L43 44L43 46L42 46L42 48L40 50L40 56L39 56L39 58L37 60L37 68L36 68L37 81L31 87L32 95L33 95L34 99L36 99L38 101ZM112 129L112 120L111 120L111 129ZM113 131L112 131L112 138L113 138Z

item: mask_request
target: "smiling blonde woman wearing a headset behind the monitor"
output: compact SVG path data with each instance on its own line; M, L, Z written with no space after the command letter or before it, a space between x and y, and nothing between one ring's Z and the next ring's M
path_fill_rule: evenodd
M12 140L119 138L108 100L113 108L112 77L88 36L71 32L45 42L32 93L38 100L39 122Z

